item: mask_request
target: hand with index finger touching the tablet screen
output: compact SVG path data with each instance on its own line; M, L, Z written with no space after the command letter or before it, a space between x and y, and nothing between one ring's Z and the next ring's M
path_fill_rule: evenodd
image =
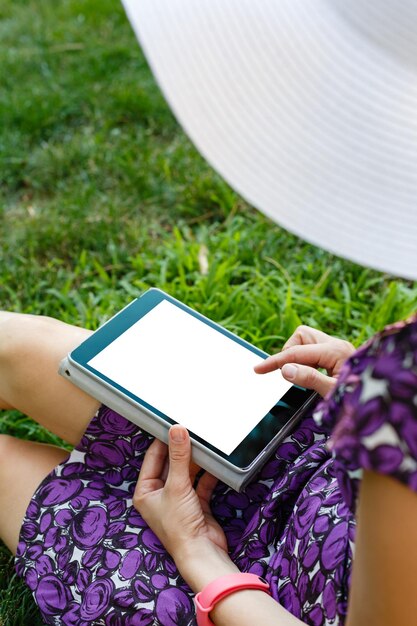
M343 363L355 352L354 346L310 326L299 326L281 352L255 366L257 374L281 369L295 385L317 391L321 396L333 389ZM327 376L318 371L323 368Z

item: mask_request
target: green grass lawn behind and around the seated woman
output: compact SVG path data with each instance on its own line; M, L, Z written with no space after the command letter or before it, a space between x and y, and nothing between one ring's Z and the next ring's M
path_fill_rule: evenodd
M208 167L119 2L3 0L0 42L1 309L96 328L156 286L267 351L300 322L359 344L417 309L417 285L305 244ZM0 432L58 441L17 412ZM0 624L42 624L5 548Z

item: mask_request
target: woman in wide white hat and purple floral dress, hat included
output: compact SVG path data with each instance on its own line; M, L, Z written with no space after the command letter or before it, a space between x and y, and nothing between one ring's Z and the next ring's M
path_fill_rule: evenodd
M232 186L310 242L417 277L415 0L124 4ZM167 463L164 445L58 377L87 331L1 319L2 407L75 445L68 457L1 437L0 534L45 623L191 625L201 592L200 624L416 622L416 319L358 352L302 327L261 364L326 399L241 494L190 465L181 426Z

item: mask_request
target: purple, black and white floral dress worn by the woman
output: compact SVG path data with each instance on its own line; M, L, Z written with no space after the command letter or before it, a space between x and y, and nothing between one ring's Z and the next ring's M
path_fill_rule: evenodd
M417 490L417 320L385 329L346 363L334 393L244 493L212 510L242 571L306 624L343 624L363 469ZM332 453L326 442L331 435ZM101 407L27 510L16 568L46 624L191 626L193 594L132 507L151 437Z

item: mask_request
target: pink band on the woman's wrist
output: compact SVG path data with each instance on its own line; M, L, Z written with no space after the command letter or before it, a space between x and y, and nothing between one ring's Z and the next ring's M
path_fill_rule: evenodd
M206 585L194 599L198 626L215 626L209 617L210 611L214 609L217 602L241 589L259 589L271 595L266 580L256 574L236 572L236 574L220 576Z

